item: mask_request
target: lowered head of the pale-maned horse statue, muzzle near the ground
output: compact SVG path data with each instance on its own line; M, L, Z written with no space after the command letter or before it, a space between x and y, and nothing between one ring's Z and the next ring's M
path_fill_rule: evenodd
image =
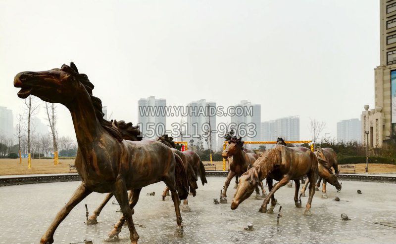
M231 209L235 210L253 193L255 187L260 182L261 170L259 167L252 167L251 164L247 167L247 171L239 177L237 192L231 203Z

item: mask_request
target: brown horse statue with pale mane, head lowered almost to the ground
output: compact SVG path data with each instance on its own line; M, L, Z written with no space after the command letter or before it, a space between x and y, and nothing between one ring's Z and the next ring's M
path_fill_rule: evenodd
M309 198L304 212L304 214L309 215L312 198L315 194L315 189L312 186L315 184L318 175L317 158L311 150L305 147L289 148L284 145L277 145L273 149L266 151L252 166L249 165L246 173L239 177L239 184L231 203L231 209L235 210L239 204L252 194L257 182L270 176L270 178L279 182L272 186L272 180L268 181L269 178L267 177L270 193L264 199L258 211L267 212L267 205L271 199L271 211L269 212L273 212L276 205L276 201L273 198L274 193L280 187L286 185L289 180L299 179L304 174L308 175L309 182L311 182ZM297 195L298 189L295 194L295 203L298 201Z

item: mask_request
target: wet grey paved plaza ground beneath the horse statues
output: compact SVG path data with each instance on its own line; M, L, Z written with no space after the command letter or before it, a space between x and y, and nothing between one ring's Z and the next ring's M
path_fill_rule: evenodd
M304 208L296 208L294 188L282 187L276 198L282 205L280 225L277 214L259 213L262 200L254 194L232 211L230 203L235 189L230 187L227 204L213 204L219 198L224 177L208 178L208 185L199 186L197 196L189 197L191 212L182 212L184 236L175 237L176 217L170 197L161 201L164 183L143 188L135 207L134 222L141 244L279 244L279 243L394 243L396 228L375 222L396 221L396 185L389 183L343 181L340 193L328 187L329 199L316 192L312 216L304 216ZM56 212L66 203L79 182L42 183L0 187L0 244L37 244ZM357 194L357 190L362 194ZM267 189L268 190L268 189ZM155 196L148 196L149 192ZM333 199L338 196L341 201ZM118 205L104 207L93 226L85 225L85 206L92 213L104 194L91 194L77 205L55 232L55 244L80 243L84 239L94 244L104 239L120 217ZM307 197L302 198L303 206ZM275 211L278 211L277 205ZM341 213L351 219L341 220ZM253 231L245 231L247 222ZM124 226L119 244L128 244L129 232Z

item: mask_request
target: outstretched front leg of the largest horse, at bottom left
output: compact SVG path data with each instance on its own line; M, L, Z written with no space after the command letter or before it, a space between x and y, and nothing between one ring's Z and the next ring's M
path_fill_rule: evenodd
M62 222L63 219L70 213L70 211L75 207L78 203L80 203L84 198L92 193L91 190L88 190L84 184L80 184L77 190L73 193L73 196L67 202L62 209L56 214L55 219L49 225L48 230L44 233L43 237L40 240L40 244L52 244L53 243L53 233L56 228Z

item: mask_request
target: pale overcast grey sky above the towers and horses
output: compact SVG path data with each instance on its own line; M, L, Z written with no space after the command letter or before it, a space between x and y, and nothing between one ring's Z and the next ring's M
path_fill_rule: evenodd
M168 105L246 99L261 104L262 121L300 115L301 139L309 117L336 137L338 121L374 106L379 44L379 0L0 0L0 106L22 111L18 72L74 61L111 119L137 123L149 95ZM59 133L74 137L58 108Z

